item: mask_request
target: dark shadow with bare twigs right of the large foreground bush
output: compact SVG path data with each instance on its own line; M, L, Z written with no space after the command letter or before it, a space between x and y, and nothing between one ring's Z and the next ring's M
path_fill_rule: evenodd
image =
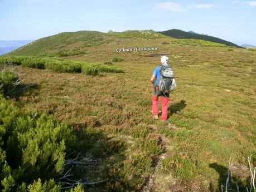
M65 167L65 172L71 169L71 176L62 180L66 182L63 187L70 186L67 183L80 181L88 183L85 184L86 191L108 191L109 185L114 185L117 178L124 180L119 173L112 173L114 165L125 160L127 143L124 140L109 137L96 127L76 126L73 135L66 159L75 159L78 163ZM84 160L87 163L82 164Z

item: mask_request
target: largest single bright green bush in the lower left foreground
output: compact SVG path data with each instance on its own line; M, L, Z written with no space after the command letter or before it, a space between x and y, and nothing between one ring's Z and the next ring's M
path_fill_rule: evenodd
M23 114L1 95L0 111L0 190L20 191L37 178L61 175L69 127L46 114Z

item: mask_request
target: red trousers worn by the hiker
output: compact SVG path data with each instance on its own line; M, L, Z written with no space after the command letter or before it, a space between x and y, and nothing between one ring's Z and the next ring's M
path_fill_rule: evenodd
M152 111L153 111L153 115L154 116L158 115L158 97L159 96L160 95L156 96L156 95L153 94L153 98L152 98ZM161 104L162 104L161 120L162 121L166 121L167 120L168 103L169 103L169 98L161 96Z

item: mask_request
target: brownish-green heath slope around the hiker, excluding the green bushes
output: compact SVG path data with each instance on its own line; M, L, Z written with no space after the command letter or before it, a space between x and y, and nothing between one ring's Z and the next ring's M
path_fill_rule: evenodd
M17 97L18 106L73 127L77 140L71 149L96 160L94 166L78 168L75 179L103 181L85 185L85 191L219 191L229 169L230 189L236 189L237 181L240 191L245 191L250 185L247 157L252 155L254 166L256 159L256 52L214 43L207 46L207 41L140 35L99 33L94 40L102 40L86 43L104 43L61 58L110 63L118 57L123 61L109 65L123 73L90 76L12 67L24 85L35 85ZM61 50L58 46L40 54L51 56ZM115 52L136 46L158 46L159 50ZM149 81L162 55L170 58L177 83L170 94L166 122L152 120ZM231 166L230 157L234 158Z

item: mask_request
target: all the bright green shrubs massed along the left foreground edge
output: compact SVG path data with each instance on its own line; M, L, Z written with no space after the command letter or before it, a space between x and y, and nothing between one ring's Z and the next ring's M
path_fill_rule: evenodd
M74 151L72 144L78 138L72 127L53 116L22 111L15 102L4 99L20 88L17 81L15 72L0 72L0 189L61 191L63 179L59 178L66 171L66 152ZM83 191L81 186L71 191Z

